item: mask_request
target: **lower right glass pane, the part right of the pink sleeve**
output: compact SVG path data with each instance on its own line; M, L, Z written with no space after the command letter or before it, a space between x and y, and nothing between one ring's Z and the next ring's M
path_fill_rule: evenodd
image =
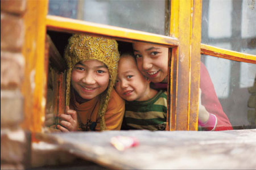
M233 129L256 128L256 65L204 55L201 61Z

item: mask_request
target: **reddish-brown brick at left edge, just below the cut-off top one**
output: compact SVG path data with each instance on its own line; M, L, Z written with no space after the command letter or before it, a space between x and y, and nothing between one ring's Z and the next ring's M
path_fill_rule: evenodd
M1 12L1 50L21 52L23 42L23 18Z

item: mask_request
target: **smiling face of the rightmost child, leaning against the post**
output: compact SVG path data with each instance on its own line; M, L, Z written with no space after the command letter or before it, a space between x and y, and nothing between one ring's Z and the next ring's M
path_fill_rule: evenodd
M138 69L142 74L151 82L162 82L168 75L168 48L135 42L133 43L133 49Z

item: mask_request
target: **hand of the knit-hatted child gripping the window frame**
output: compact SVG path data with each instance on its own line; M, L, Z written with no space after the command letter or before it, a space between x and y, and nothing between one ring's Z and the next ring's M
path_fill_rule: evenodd
M65 114L60 114L60 125L57 128L61 131L77 131L77 113L66 106Z

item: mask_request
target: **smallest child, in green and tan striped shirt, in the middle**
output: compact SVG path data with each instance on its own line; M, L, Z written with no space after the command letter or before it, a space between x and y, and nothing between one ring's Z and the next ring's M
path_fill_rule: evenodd
M127 101L124 122L129 129L166 129L167 92L150 88L132 53L120 57L115 90Z

